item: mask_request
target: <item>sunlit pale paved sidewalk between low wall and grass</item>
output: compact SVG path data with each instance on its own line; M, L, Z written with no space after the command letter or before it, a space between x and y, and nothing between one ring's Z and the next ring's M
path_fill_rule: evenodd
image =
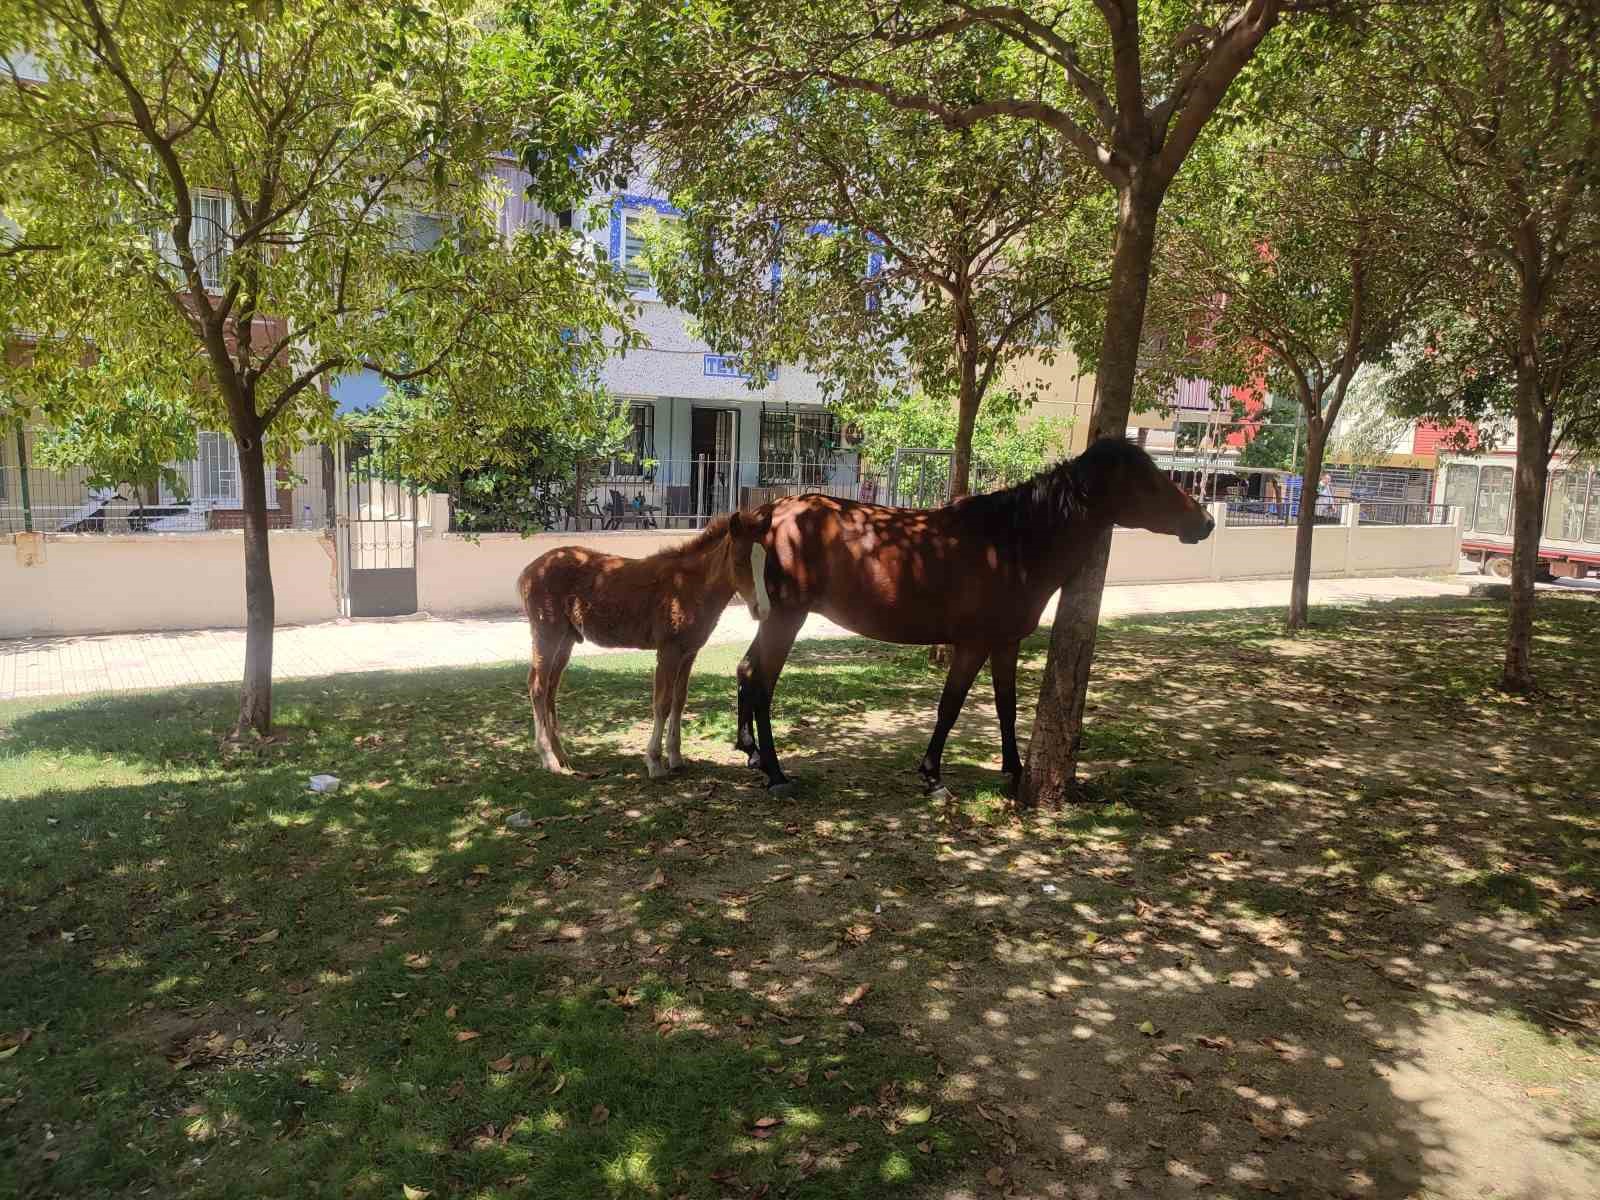
M1149 584L1109 587L1102 614L1195 613L1213 608L1270 608L1288 603L1286 579L1232 584ZM1314 579L1314 605L1352 605L1403 597L1466 595L1467 584L1442 579ZM1054 602L1051 602L1051 608ZM1050 610L1045 613L1050 619ZM742 605L730 608L712 643L747 643L755 622ZM813 616L802 638L850 637L832 621ZM606 651L581 643L578 654ZM344 675L355 670L416 670L506 662L528 654L528 627L520 616L435 621L328 621L283 626L274 653L274 678ZM230 683L245 669L245 634L200 629L168 634L102 634L0 642L0 699L138 691L192 683Z

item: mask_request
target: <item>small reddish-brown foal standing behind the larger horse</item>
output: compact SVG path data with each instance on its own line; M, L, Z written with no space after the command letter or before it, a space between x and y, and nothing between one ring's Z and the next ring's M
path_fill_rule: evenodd
M645 766L656 779L683 765L680 728L694 656L734 592L750 606L750 616L766 616L765 584L758 582L766 554L758 538L765 530L765 520L734 512L712 520L693 541L648 558L563 546L522 570L517 592L533 634L528 701L547 770L573 770L562 747L555 693L573 643L584 638L597 646L656 651L656 726Z

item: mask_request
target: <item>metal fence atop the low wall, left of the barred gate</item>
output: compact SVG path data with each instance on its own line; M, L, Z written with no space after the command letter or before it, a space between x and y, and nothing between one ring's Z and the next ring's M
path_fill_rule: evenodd
M10 442L10 438L6 438ZM14 445L0 459L0 533L202 533L240 530L238 453L232 438L208 434L200 453L171 467L176 480L144 486L91 486L86 470L18 466ZM330 525L333 456L304 446L274 469L267 523L274 530Z

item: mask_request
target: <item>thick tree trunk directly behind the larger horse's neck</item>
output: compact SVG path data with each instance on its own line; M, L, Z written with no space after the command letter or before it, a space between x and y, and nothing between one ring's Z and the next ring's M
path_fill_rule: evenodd
M1150 291L1150 256L1155 251L1155 216L1162 189L1130 186L1122 190L1117 213L1117 246L1112 254L1110 288L1106 296L1106 330L1096 371L1094 418L1090 438L1123 437L1133 384L1139 370L1139 339L1144 333L1144 304ZM1077 578L1069 579L1056 600L1050 630L1050 658L1038 690L1038 710L1027 744L1027 762L1018 803L1054 806L1074 789L1078 744L1083 739L1083 706L1088 698L1094 635L1099 630L1101 594L1106 590L1106 560L1110 557L1110 530L1098 539Z

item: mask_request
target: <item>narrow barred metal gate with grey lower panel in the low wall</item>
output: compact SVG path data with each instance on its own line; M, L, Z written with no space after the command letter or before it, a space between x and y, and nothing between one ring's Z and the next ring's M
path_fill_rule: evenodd
M341 610L414 613L418 488L400 469L398 443L358 434L339 445L336 459Z

